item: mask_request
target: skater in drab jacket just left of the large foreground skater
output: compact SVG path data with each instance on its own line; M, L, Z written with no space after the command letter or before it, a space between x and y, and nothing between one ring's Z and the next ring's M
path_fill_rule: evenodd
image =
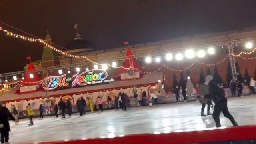
M210 108L211 108L210 99L206 97L210 97L208 86L207 84L200 84L200 102L202 104L201 116L212 115L210 113ZM204 108L206 104L207 104L207 115L204 114Z

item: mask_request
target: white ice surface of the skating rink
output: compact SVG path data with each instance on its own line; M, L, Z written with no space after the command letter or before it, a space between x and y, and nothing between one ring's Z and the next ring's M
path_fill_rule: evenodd
M238 125L256 124L256 96L229 98L228 107ZM10 122L10 143L24 144L44 141L114 137L127 134L180 132L215 128L212 116L200 116L201 104L196 102L160 104L156 107L133 107L122 110L105 110L79 118L72 114L70 119L44 120L34 118L34 126L28 119L20 120L15 126ZM212 109L211 109L212 111ZM206 108L205 108L206 113ZM221 114L222 126L232 126Z

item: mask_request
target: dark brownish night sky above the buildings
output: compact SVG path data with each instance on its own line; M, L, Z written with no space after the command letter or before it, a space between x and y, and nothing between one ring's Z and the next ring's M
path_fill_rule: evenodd
M96 49L256 26L256 0L0 0L0 21L66 47L76 34ZM4 29L28 36L9 26ZM43 46L0 32L0 73L40 60Z

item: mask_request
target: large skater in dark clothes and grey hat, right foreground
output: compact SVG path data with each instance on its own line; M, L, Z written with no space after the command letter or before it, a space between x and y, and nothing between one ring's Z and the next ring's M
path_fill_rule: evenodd
M223 88L220 88L218 84L216 84L213 80L213 76L208 75L205 78L205 84L208 85L210 95L202 96L205 98L212 98L215 103L214 111L212 117L215 121L216 127L221 127L220 124L220 113L222 112L223 115L228 118L233 126L238 126L237 122L234 120L233 116L228 111L228 94L225 93Z

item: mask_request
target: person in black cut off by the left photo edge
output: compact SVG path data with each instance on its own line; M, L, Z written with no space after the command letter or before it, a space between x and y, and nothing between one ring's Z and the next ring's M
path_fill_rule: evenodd
M10 124L9 118L15 121L8 108L6 108L6 102L0 102L0 133L1 133L1 144L9 144L9 132Z

